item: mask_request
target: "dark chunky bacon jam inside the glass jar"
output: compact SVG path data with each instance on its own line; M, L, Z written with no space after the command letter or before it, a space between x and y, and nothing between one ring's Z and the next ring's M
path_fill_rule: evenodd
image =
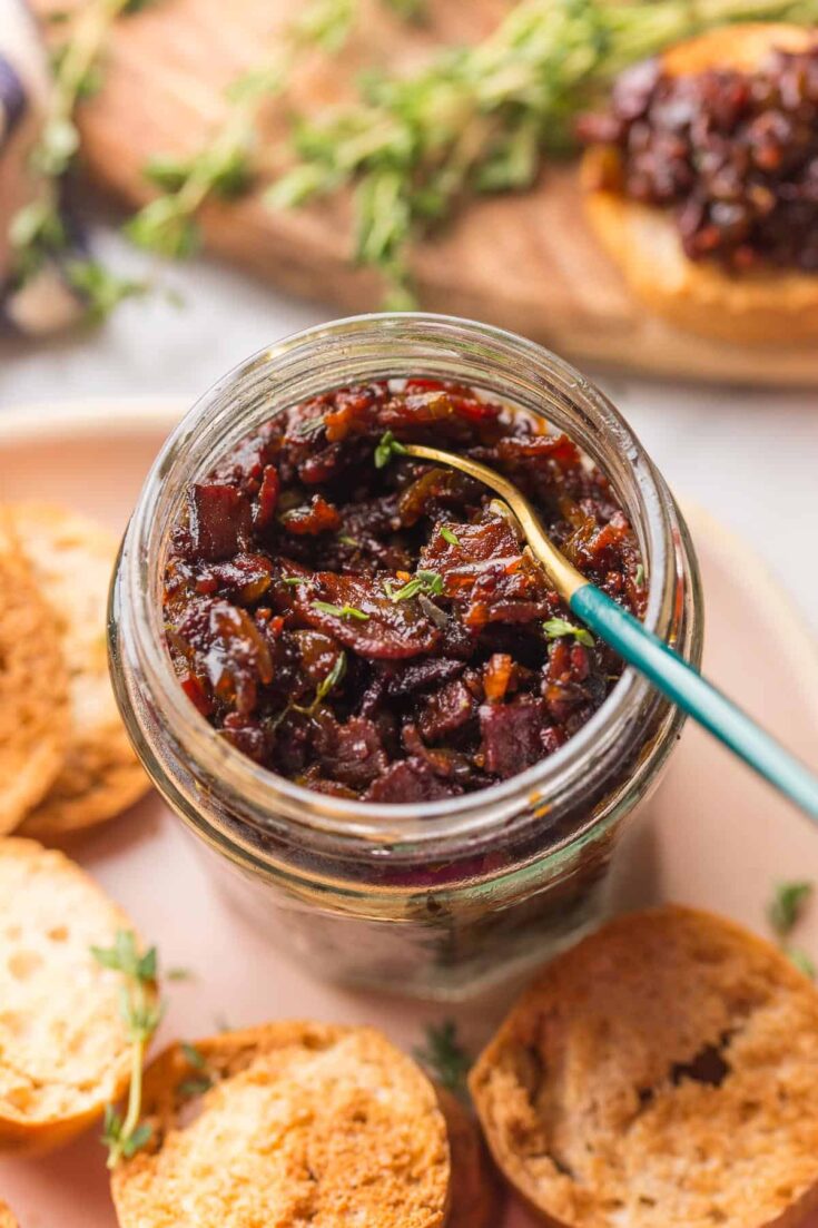
M608 480L522 411L415 378L278 415L187 491L167 643L224 738L365 802L456 797L523 771L585 725L621 669L491 491L403 454L408 442L511 478L585 575L639 615L645 603Z

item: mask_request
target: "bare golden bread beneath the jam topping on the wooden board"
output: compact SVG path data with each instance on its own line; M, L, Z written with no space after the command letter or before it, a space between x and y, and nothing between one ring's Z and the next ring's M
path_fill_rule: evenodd
M818 36L800 26L728 26L666 52L667 72L711 68L752 71L774 49L804 50ZM608 255L652 311L679 328L743 344L796 345L818 340L818 275L797 270L732 273L690 260L672 215L609 187L609 151L587 150L582 163L586 212Z

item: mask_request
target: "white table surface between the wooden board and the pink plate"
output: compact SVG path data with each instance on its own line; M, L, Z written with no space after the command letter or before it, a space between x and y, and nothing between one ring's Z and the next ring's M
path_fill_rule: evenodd
M118 268L145 268L111 231L103 230L97 242ZM0 411L86 398L193 402L254 350L337 314L205 259L158 275L181 292L183 306L156 293L125 303L93 333L0 341ZM588 373L631 421L674 491L752 539L818 630L818 391L712 388Z

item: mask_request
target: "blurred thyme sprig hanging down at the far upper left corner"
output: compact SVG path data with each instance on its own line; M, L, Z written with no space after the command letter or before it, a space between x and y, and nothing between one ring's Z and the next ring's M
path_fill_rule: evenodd
M139 12L147 2L92 0L80 9L70 36L54 55L48 114L31 152L39 187L34 198L17 210L9 227L14 286L22 286L47 259L64 254L70 247L71 236L60 212L60 194L80 149L76 109L99 87L101 58L117 17ZM119 278L91 258L66 262L64 273L86 303L91 323L106 319L124 298L142 295L147 289L145 282Z

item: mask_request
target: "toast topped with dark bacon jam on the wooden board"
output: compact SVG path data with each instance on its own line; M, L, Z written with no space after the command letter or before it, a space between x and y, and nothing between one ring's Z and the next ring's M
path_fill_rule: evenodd
M818 340L818 31L711 31L630 69L580 122L592 230L677 325Z

